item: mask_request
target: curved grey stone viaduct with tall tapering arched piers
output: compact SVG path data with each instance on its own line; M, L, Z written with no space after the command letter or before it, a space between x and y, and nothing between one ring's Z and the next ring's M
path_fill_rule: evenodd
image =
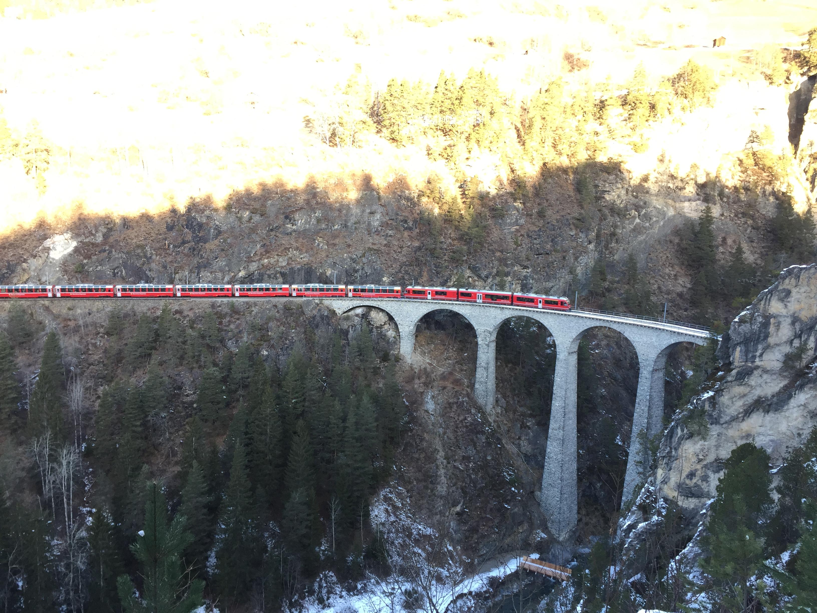
M553 379L551 422L547 432L542 491L537 498L547 517L547 526L556 538L565 540L576 526L577 436L576 375L578 342L588 329L606 327L617 330L632 342L639 364L636 409L632 418L627 473L623 498L630 499L633 489L644 477L648 466L646 439L661 430L663 417L664 365L667 355L679 342L703 345L709 333L682 324L641 320L623 315L604 315L589 311L539 311L463 302L394 300L364 298L323 298L338 315L357 307L386 311L400 332L400 355L410 362L414 351L417 323L431 311L454 311L465 317L476 332L477 356L474 395L488 411L493 411L495 391L497 332L502 322L525 316L544 325L556 341L556 373Z

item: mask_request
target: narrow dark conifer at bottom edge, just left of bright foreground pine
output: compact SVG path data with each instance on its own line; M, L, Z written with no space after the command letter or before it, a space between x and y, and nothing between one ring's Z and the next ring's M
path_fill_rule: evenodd
M88 607L90 611L115 613L119 611L116 578L121 574L122 561L114 533L114 521L109 512L96 508L91 516L88 545L90 584Z

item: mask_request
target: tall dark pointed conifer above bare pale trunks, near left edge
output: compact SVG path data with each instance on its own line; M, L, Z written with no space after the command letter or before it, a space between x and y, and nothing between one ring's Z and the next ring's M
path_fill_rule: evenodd
M29 436L39 436L50 430L56 440L65 435L65 417L62 414L62 393L65 378L60 339L52 330L42 346L40 374L29 400Z

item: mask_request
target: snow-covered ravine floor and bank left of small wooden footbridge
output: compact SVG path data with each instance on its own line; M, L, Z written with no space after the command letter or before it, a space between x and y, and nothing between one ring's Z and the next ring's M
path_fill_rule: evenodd
M355 588L346 590L335 575L325 571L315 580L316 595L295 603L290 611L307 613L403 613L420 609L444 613L452 602L467 594L485 592L514 572L520 557L508 557L497 566L467 575L470 562L458 557L444 535L415 520L408 510L408 494L399 487L382 490L373 500L372 525L382 531L392 569L390 577L367 574ZM531 553L530 557L538 557ZM406 594L417 594L422 605L406 604Z

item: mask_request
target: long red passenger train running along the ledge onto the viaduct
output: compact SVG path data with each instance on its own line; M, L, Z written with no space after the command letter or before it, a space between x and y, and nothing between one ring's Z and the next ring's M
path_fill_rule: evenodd
M336 285L336 284L230 284L208 283L163 285L0 285L0 298L408 298L474 302L530 309L569 311L564 296L538 293L498 292L493 289L428 288L409 285Z

